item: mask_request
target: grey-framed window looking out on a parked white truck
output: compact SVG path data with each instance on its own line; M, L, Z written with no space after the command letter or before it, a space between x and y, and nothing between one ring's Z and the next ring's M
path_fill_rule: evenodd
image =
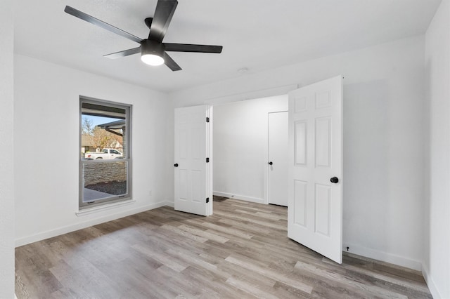
M79 208L131 199L131 105L79 102Z

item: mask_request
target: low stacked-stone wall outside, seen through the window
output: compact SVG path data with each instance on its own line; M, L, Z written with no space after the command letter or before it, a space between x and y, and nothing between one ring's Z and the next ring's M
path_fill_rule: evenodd
M125 161L84 164L84 186L99 182L123 182L125 180L127 180L127 163Z

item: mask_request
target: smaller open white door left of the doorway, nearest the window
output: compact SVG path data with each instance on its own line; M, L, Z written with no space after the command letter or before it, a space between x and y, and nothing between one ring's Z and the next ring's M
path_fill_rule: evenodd
M175 109L176 211L212 214L209 117L206 105Z

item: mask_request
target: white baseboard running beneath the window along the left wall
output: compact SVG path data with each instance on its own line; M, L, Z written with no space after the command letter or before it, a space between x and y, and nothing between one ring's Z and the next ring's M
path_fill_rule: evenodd
M51 237L59 236L60 234L67 234L68 232L74 232L75 230L82 230L83 228L90 227L92 225L98 225L111 220L116 220L119 218L127 217L129 215L134 215L136 213L145 212L148 210L153 210L153 208L159 208L160 206L173 206L174 204L169 201L161 201L155 204L149 204L146 206L140 206L139 208L132 208L127 211L121 211L119 213L113 213L100 218L95 218L87 221L77 222L73 225L67 225L63 227L58 227L54 230L47 230L46 232L39 232L37 234L32 234L27 237L21 237L15 239L15 247L23 246L33 242L41 241L44 239L49 239Z

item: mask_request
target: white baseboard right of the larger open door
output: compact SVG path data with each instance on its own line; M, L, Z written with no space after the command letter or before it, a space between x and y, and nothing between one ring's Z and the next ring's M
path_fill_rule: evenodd
M347 251L347 247L349 247L348 251L349 253L362 255L365 256L366 258L373 258L373 260L380 260L382 262L399 265L401 267L406 267L417 271L422 271L422 263L418 260L411 260L409 258L404 258L399 255L394 255L392 253L376 251L371 248L366 248L354 244L343 244L342 251Z

